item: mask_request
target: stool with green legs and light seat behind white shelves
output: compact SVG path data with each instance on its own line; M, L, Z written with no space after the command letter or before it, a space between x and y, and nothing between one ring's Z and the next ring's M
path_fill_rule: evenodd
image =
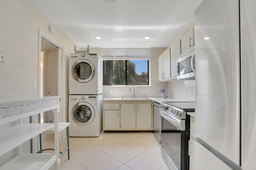
M67 144L68 144L68 147L63 152L59 151L60 152L59 158L61 158L62 155L68 150L68 159L70 159L70 152L69 152L69 125L70 125L70 123L68 123L68 122L59 122L58 123L58 127L59 127L58 132L59 133L67 128ZM54 134L54 127L44 131L42 134ZM36 153L42 153L45 150L54 150L54 149L42 149L42 136L41 136L41 134L39 135L39 142L40 142L40 150L38 152L36 152Z

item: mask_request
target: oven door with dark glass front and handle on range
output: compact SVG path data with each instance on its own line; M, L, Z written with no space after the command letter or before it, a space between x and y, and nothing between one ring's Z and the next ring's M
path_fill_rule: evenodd
M164 112L162 110L160 111L162 118L166 119L166 122L170 125L174 125L177 129L180 129L181 126L178 125L177 120L173 120L172 115ZM184 130L161 131L161 154L170 170L186 170L186 140Z

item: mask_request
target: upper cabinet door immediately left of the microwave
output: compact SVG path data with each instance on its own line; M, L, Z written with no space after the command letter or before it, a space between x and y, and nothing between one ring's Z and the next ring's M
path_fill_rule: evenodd
M177 58L180 57L180 41L171 46L171 76L177 76Z

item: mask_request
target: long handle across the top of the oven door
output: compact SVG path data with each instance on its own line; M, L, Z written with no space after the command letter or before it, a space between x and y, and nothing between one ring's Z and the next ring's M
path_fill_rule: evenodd
M185 130L185 120L178 119L173 115L170 115L169 113L166 113L166 111L160 110L161 116L166 119L168 122L170 122L172 125L177 127L180 131ZM168 116L166 116L168 115Z

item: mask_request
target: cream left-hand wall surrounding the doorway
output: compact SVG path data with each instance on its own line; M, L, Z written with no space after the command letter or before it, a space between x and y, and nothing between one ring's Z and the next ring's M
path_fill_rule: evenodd
M0 63L0 98L34 98L38 94L38 70L18 65L19 37L24 43L24 59L38 61L38 29L52 37L66 48L66 84L62 88L66 91L66 109L62 110L62 121L68 121L68 61L69 53L74 53L75 43L68 38L56 25L46 18L28 0L0 0L0 51L6 53L6 63ZM55 34L48 31L48 27L55 27ZM34 58L31 58L34 55ZM38 67L37 63L35 64ZM32 89L32 81L36 82L36 89ZM65 98L64 97L64 98ZM64 100L65 101L65 100ZM26 119L25 122L28 120ZM0 125L7 127L12 125ZM25 145L25 152L29 152ZM15 149L4 156L0 156L0 165L16 154Z

